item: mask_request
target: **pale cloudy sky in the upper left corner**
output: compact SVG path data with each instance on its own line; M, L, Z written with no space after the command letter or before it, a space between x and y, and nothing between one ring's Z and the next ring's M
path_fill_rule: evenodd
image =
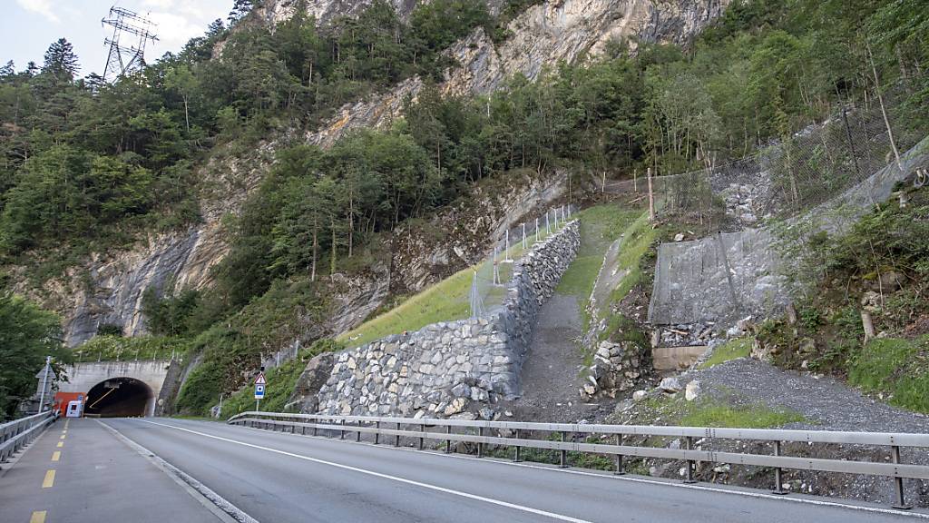
M154 33L159 40L149 42L145 52L145 60L152 62L205 33L211 21L226 20L233 3L234 0L0 0L0 65L13 60L20 71L33 60L41 66L48 45L63 36L77 54L79 76L103 74L109 50L103 39L111 36L112 27L101 27L100 20L114 4L147 15L157 24Z

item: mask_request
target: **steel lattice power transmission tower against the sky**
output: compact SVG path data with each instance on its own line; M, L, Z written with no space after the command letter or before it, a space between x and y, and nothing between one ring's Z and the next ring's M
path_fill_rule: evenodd
M110 25L113 28L112 36L103 40L105 45L110 46L107 65L103 69L103 79L114 82L120 76L141 70L145 65L145 45L149 40L158 40L158 36L150 31L155 24L135 11L123 7L110 7L110 14L100 20L100 25ZM121 44L121 37L132 43Z

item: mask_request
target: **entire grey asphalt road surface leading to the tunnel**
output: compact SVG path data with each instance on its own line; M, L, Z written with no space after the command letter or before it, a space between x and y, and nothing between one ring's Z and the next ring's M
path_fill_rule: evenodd
M874 511L872 509L882 507L873 505L833 506L823 498L794 495L781 498L755 490L726 491L706 485L685 487L650 478L620 478L543 465L395 449L387 445L375 447L367 443L268 433L214 422L167 419L104 422L212 489L244 515L264 523L881 523L927 516L924 512L903 516ZM57 427L52 434L55 430ZM59 496L59 492L52 490L33 493L42 480L38 477L41 474L35 473L43 471L27 474L25 470L20 473L16 469L36 456L47 460L49 449L36 445L7 476L0 478L0 521L30 521L30 511L39 506L51 507L49 522L148 520L143 519L143 515L151 516L150 520L171 523L215 519L187 490L177 486L99 422L72 422L72 434L79 435L84 430L87 436L100 438L101 443L74 449L77 468L67 475L70 475L69 481L82 486L85 481L90 482L84 488L86 498L69 497L74 493ZM39 443L53 441L54 437L57 436L46 435ZM107 474L113 476L104 483L111 485L111 491L108 497L98 498L91 484L96 485L103 479L94 479L94 476L104 475L95 471L93 463L109 460L110 456L114 461L109 462L111 470ZM45 466L43 463L42 467ZM158 474L163 477L155 477ZM27 478L25 486L20 485ZM111 502L113 499L118 499L118 503ZM157 503L152 503L155 500ZM65 509L72 503L83 510L67 512ZM7 510L7 507L15 510ZM180 516L167 516L166 511ZM153 516L155 514L159 516Z

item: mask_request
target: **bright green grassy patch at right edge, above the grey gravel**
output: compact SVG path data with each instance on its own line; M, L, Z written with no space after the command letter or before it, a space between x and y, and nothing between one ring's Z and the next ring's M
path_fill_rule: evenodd
M888 395L891 405L929 413L929 335L872 340L852 356L848 381Z

